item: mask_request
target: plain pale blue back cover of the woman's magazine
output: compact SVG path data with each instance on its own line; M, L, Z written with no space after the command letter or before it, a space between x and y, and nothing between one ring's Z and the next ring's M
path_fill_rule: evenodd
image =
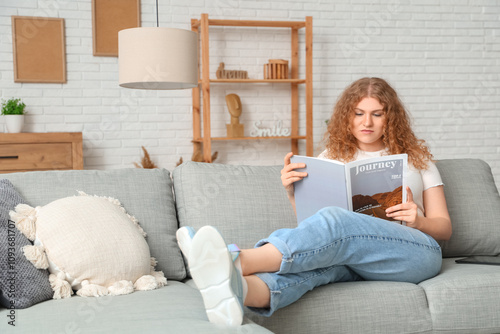
M343 163L300 155L294 155L291 162L305 163L306 168L297 171L308 173L294 183L298 223L327 206L349 208Z

